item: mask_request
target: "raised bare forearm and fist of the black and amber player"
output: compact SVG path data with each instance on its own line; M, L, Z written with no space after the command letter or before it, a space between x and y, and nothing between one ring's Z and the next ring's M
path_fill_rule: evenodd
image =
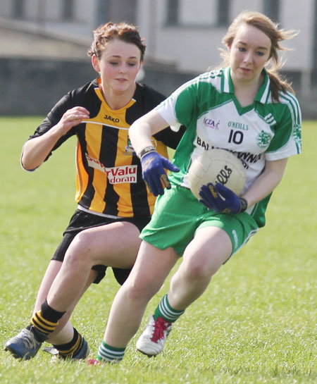
M89 118L89 111L81 106L76 106L68 109L63 114L61 120L43 135L27 140L23 145L21 154L23 168L27 171L32 171L39 167L46 157L49 156L56 142L63 135L66 135L71 128L87 118Z

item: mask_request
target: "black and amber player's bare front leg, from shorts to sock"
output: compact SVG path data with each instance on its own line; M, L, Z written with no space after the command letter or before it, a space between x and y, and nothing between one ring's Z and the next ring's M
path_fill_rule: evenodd
M139 230L132 223L116 222L79 233L66 252L63 266L51 285L47 303L63 312L76 299L78 287L85 287L89 272L104 264L130 268L139 249Z

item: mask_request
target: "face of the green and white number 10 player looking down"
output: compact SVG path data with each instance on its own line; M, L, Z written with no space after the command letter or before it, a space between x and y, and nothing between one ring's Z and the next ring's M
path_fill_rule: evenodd
M252 25L241 25L229 49L232 80L257 82L270 58L271 39L268 35Z

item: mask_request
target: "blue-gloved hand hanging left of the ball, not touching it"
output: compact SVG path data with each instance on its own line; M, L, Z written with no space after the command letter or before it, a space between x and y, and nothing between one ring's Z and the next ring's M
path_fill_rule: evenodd
M174 164L170 163L168 159L161 156L156 151L144 155L141 159L141 165L143 180L154 196L163 194L163 187L170 190L170 181L168 180L164 168L173 172L180 171L177 166L174 166Z

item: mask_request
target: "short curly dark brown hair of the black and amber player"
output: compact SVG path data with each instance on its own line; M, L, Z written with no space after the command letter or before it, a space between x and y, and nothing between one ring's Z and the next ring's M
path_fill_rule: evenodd
M144 39L141 39L137 27L129 23L106 23L100 25L94 30L94 41L88 49L88 56L96 55L100 60L102 52L106 48L108 42L113 39L120 39L123 42L135 44L141 52L141 61L144 60L144 52L147 47Z

